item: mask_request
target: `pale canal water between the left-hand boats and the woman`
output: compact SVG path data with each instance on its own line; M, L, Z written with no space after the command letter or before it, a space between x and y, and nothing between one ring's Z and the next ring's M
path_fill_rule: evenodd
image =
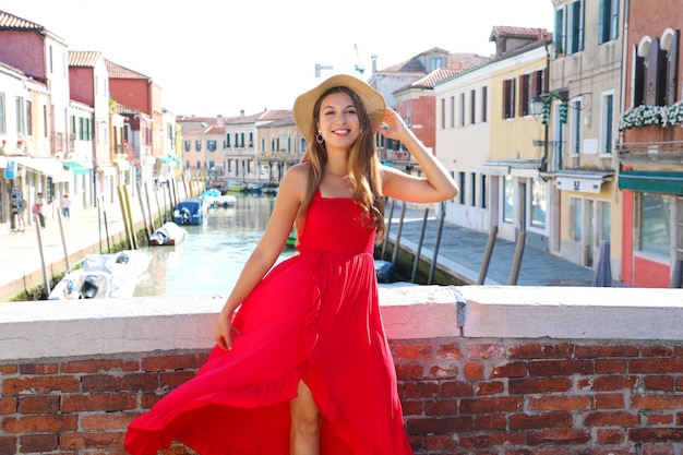
M268 224L275 196L237 195L233 207L211 208L203 226L183 226L184 242L151 247L149 268L135 296L227 295ZM296 254L283 251L278 261Z

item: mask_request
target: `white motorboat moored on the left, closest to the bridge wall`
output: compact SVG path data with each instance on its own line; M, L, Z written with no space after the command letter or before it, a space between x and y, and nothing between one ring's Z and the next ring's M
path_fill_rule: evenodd
M145 273L152 253L124 250L112 254L87 254L55 286L48 300L133 297L137 278Z

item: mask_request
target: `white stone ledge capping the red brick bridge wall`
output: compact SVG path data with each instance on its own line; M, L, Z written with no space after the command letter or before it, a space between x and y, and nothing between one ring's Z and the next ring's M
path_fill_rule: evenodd
M206 349L226 296L0 303L0 362ZM398 286L380 289L390 339L683 339L680 289Z

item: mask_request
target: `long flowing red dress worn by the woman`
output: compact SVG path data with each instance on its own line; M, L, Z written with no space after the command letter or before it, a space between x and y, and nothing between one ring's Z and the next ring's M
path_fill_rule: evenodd
M412 454L378 301L375 232L350 199L309 206L296 256L243 302L232 350L137 417L125 450L173 439L201 455L289 454L289 400L303 380L323 416L322 455Z

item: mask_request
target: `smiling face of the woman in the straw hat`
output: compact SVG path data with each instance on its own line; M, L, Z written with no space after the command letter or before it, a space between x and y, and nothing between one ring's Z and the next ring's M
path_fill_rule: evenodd
M346 92L334 92L320 104L317 131L326 147L349 148L360 134L358 109Z

